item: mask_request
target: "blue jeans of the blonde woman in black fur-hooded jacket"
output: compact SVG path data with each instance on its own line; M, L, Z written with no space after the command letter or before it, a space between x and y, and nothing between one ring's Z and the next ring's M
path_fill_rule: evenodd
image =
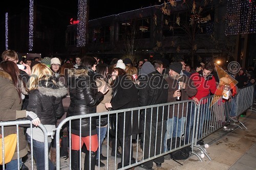
M31 137L28 135L28 142L29 142L30 147L32 147L30 139L31 139ZM51 143L48 143L48 151L50 149L50 144ZM45 169L45 144L44 144L44 142L39 142L39 141L33 139L33 156L35 158L37 170L44 170ZM55 166L51 162L51 160L50 159L48 159L48 160L49 160L49 170L55 169Z

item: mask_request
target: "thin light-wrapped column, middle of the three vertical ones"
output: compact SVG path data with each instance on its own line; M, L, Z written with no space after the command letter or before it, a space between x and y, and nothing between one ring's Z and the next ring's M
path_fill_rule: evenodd
M29 0L29 51L33 50L34 1Z

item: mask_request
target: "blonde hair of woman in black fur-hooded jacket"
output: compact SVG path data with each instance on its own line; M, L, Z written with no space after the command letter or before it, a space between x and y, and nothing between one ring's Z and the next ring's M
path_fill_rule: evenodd
M27 90L38 89L40 80L48 80L53 76L53 71L44 63L38 63L32 67L32 73L27 83ZM55 83L55 82L54 82Z

